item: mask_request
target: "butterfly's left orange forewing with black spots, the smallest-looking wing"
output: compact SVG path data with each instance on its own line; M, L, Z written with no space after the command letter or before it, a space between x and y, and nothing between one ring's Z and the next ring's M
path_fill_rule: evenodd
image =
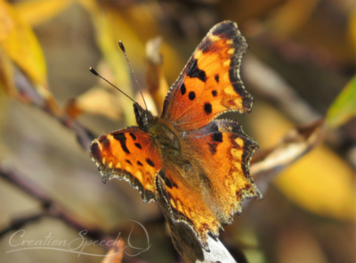
M149 133L126 127L93 140L90 149L103 182L125 179L140 191L144 202L156 200L156 177L162 164Z

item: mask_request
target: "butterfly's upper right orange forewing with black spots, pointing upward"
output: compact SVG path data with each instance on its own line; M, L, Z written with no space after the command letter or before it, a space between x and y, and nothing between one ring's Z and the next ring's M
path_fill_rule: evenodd
M247 47L236 23L214 26L166 95L162 118L187 131L206 126L226 111L250 112L253 98L239 78Z

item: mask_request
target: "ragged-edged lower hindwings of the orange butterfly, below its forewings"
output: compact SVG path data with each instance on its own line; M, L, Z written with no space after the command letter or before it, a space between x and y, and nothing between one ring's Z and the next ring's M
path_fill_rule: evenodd
M164 168L165 185L158 185L176 222L185 222L207 248L206 234L218 236L221 223L231 224L242 212L244 198L262 194L249 175L249 162L258 144L246 136L239 123L213 120L206 127L187 132L183 154L193 159L190 171ZM164 165L165 166L165 165Z

